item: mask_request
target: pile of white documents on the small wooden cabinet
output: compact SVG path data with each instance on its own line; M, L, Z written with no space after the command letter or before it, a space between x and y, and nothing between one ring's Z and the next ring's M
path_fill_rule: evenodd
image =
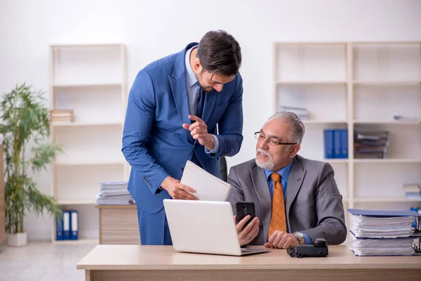
M102 181L100 194L96 197L97 205L131 205L135 204L127 190L127 181Z

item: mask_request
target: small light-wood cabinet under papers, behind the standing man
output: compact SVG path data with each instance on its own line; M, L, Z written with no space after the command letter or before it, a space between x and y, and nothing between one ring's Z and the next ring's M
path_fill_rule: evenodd
M136 205L97 205L100 244L140 244Z

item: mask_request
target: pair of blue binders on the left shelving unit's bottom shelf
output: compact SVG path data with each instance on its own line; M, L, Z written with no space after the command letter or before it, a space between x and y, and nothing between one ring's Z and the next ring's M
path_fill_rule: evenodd
M61 217L55 218L55 240L79 239L79 213L75 210L62 211Z

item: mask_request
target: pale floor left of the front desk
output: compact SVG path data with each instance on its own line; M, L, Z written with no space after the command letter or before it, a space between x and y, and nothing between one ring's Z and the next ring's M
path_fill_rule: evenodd
M76 263L95 246L93 242L29 242L20 248L0 246L0 280L85 280L84 271L76 270Z

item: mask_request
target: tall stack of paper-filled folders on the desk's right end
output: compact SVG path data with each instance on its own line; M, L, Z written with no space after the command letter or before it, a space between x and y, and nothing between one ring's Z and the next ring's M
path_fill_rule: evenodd
M352 214L350 249L356 256L412 256L415 254L415 211L348 209Z

